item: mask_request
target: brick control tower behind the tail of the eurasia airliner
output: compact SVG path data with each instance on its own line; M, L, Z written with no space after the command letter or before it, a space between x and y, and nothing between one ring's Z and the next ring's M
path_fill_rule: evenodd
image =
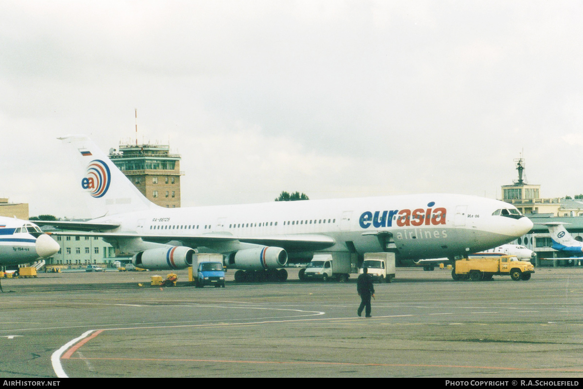
M180 154L164 144L123 144L110 149L110 160L142 195L161 207L180 208Z

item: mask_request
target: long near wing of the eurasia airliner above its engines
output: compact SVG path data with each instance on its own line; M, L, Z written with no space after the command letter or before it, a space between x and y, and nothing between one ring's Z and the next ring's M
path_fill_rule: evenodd
M103 239L135 239L141 238L145 242L168 243L172 241L182 242L189 247L212 247L220 243L238 241L255 245L282 247L287 252L307 252L322 250L333 246L336 241L330 236L318 234L306 235L276 235L276 236L234 236L221 234L203 235L154 235L124 232L51 232L51 235L68 236L97 236Z

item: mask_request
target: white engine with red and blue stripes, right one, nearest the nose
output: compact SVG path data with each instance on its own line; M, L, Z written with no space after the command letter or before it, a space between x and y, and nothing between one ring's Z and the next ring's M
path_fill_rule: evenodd
M287 252L281 247L258 247L257 249L238 250L229 255L227 265L241 270L265 270L284 267Z

